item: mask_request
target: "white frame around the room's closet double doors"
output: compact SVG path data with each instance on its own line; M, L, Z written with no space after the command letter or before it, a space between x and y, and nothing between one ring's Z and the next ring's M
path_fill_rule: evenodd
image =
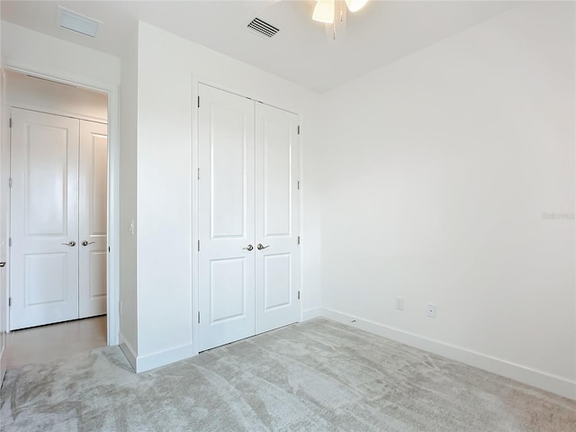
M199 337L199 324L198 324L198 312L200 311L200 278L199 278L199 268L200 268L200 252L198 251L198 242L200 241L200 224L199 224L199 211L200 211L200 202L199 202L199 182L198 182L198 169L199 169L199 151L200 151L200 137L199 134L199 106L198 106L198 98L199 98L199 85L208 85L218 90L222 90L224 92L228 92L231 94L236 94L241 97L247 97L255 102L266 103L266 105L270 105L274 108L278 108L279 110L283 110L286 112L292 112L298 116L298 124L302 126L303 119L302 119L302 112L291 110L286 107L279 106L274 102L268 101L261 101L260 99L247 96L247 94L251 94L250 91L244 91L238 88L229 87L228 85L222 85L219 82L213 81L209 76L201 76L196 74L191 74L190 81L192 82L192 94L190 94L192 98L192 119L191 119L191 132L192 132L192 215L193 218L191 220L192 225L192 347L193 347L193 356L197 356L199 353L198 350L198 337ZM271 94L271 99L274 99L274 95ZM303 142L303 133L298 135L298 177L301 181L301 189L298 195L298 230L299 235L302 238L302 221L303 221L303 196L304 196L304 186L302 182L303 178L303 151L302 151L302 142ZM302 243L301 243L302 245ZM298 322L302 322L303 314L302 314L302 298L304 295L304 285L303 283L303 247L301 246L300 254L299 254L299 266L300 266L300 275L299 275L299 283L300 283L300 290L302 293L301 301L300 301L300 319Z

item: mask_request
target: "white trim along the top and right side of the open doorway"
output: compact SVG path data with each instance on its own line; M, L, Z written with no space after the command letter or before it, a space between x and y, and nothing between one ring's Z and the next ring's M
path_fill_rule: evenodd
M120 323L120 198L119 198L119 143L120 143L120 105L119 87L117 84L103 83L86 76L76 76L62 71L38 70L28 65L23 65L10 58L4 59L3 68L8 68L23 74L32 74L42 78L59 81L84 87L108 94L108 246L111 248L108 254L107 275L107 330L108 345L119 343ZM6 290L7 292L9 290ZM9 294L7 294L9 295ZM7 299L4 299L7 300ZM6 302L7 303L7 302ZM6 306L7 309L7 306ZM7 320L8 314L6 314ZM7 324L7 322L6 322ZM6 325L6 329L9 327Z

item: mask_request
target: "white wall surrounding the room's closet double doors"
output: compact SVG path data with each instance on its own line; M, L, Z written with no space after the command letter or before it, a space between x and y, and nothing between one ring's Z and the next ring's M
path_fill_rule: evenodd
M256 67L146 23L138 58L138 356L139 370L193 353L193 74L266 103L301 112L304 130L318 96ZM312 124L314 123L311 121ZM312 127L309 128L313 135ZM307 133L307 132L305 132ZM312 144L305 139L307 147ZM303 178L306 188L306 172ZM312 193L310 196L314 196ZM310 204L310 205L309 205ZM319 244L314 204L304 226ZM312 217L307 219L307 210ZM304 246L303 246L304 247ZM319 247L306 249L315 259ZM317 260L317 258L316 258ZM320 306L319 280L304 272L304 308ZM311 284L306 278L310 278ZM307 295L306 293L309 293Z

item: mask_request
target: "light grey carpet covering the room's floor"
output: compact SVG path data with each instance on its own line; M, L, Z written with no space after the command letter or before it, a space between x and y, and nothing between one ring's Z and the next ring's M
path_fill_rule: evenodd
M329 320L134 374L118 347L6 373L9 431L576 431L576 402Z

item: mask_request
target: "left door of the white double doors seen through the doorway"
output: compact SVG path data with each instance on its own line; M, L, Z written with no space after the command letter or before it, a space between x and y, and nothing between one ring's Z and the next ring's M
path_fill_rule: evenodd
M78 314L78 121L12 111L10 329Z

